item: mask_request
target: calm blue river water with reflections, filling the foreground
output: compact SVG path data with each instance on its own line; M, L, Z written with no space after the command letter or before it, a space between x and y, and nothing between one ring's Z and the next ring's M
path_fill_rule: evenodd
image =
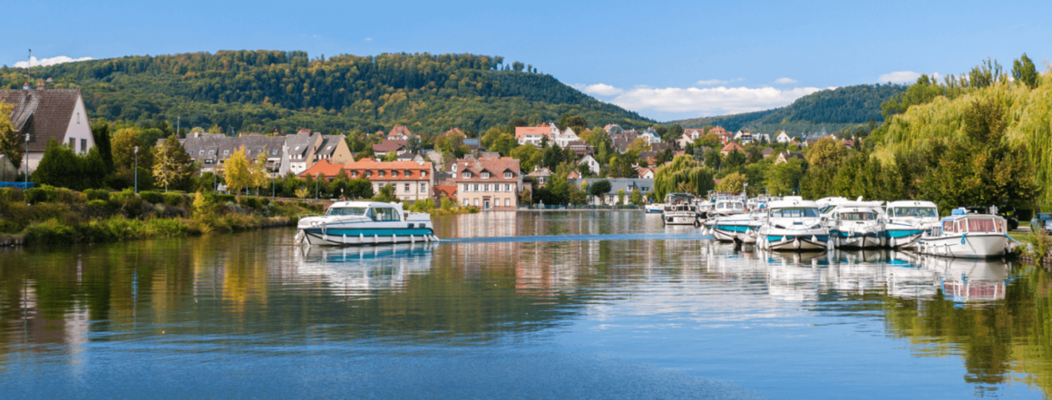
M0 251L0 398L1046 398L1052 278L639 213Z

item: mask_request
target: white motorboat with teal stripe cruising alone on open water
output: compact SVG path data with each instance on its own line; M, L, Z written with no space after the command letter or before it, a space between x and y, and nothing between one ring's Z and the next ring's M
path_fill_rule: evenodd
M402 211L402 204L375 201L339 201L324 216L304 217L298 224L297 244L397 244L438 241L431 216Z

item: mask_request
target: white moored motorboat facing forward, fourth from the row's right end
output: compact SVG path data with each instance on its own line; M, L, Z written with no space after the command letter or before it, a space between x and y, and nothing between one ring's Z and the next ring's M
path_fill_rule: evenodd
M767 221L760 228L757 245L771 251L825 251L829 229L822 224L818 204L801 197L786 197L767 205Z

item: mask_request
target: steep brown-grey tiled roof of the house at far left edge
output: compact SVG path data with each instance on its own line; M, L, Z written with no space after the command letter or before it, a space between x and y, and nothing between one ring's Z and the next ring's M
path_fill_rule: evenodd
M65 139L79 98L79 88L0 91L0 101L14 105L9 117L15 132L29 134L29 152L43 152L50 139Z

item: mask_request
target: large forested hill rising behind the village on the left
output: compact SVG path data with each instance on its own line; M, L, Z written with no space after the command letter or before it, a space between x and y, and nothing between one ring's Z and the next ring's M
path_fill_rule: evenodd
M525 69L525 71L524 71ZM532 72L531 72L532 71ZM48 87L81 87L93 118L170 123L224 132L389 129L439 134L484 132L514 119L558 120L565 113L589 125L653 121L600 102L520 62L478 55L342 55L221 51L133 56L33 67ZM0 87L26 81L24 68L0 68Z

